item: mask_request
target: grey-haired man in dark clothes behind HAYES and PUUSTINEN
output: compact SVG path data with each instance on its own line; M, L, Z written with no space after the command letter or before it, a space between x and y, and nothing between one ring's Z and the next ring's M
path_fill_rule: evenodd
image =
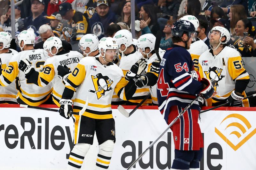
M39 34L40 34L40 36L41 36L41 38L42 38L43 41L36 43L34 48L35 48L35 49L39 49L39 48L40 48L40 49L44 49L44 47L43 47L44 41L46 41L48 38L54 36L54 35L53 35L53 32L52 32L51 26L46 25L46 24L40 26L40 27L39 27ZM71 50L72 50L71 45L70 45L67 41L61 40L61 42L62 42L62 47L63 47L66 51L71 51Z

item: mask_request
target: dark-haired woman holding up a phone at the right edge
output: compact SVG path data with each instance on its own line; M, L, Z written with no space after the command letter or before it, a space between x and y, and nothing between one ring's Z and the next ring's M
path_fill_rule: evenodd
M256 56L256 44L253 41L253 37L255 36L255 28L252 26L252 22L247 18L237 21L235 33L236 36L234 36L232 39L235 42L234 46L236 50L241 54L241 56ZM247 33L247 35L244 33Z

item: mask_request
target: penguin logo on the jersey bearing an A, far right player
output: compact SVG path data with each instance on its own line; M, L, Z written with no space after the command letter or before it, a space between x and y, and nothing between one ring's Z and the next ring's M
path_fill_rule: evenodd
M211 81L216 81L216 84L214 86L214 90L216 91L216 88L219 87L220 85L218 82L222 80L222 78L226 77L226 75L222 75L223 69L218 68L218 67L209 67L208 71L204 71L204 74L206 75L206 78L211 80Z

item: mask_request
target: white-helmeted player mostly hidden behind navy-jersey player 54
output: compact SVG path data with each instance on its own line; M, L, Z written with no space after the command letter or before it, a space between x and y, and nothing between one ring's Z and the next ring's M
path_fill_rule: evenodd
M191 22L195 26L197 32L199 21L195 16L185 15L184 17L181 17L180 20ZM199 38L196 38L196 40L193 40L190 44L188 52L190 53L192 61L194 62L194 68L196 71L198 71L198 58L206 50L208 50L208 46L204 43L203 40L200 40Z

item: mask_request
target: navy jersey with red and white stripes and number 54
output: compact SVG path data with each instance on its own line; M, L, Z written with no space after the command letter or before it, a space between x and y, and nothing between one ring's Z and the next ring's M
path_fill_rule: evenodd
M166 50L157 80L158 108L166 122L172 106L185 108L203 90L203 84L190 76L192 69L191 56L184 47L173 45ZM197 101L190 108L200 110Z

